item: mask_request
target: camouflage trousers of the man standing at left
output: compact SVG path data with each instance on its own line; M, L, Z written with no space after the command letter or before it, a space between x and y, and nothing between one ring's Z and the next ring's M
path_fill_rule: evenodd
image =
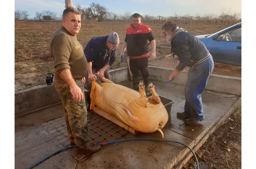
M82 79L75 80L77 86L83 92L83 100L75 101L70 92L70 88L64 81L53 77L53 84L59 93L64 108L64 116L68 130L68 137L77 146L87 146L90 137L87 128L87 109L84 98L84 86Z

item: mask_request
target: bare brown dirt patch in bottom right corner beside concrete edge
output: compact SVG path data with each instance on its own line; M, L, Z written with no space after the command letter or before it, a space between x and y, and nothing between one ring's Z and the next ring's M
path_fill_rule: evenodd
M196 151L199 168L241 169L241 133L240 105ZM183 169L196 169L195 158L192 157Z

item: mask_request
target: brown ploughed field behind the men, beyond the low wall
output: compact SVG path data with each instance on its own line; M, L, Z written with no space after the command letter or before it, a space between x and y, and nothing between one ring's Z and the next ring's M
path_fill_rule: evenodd
M162 38L163 23L145 23L151 26L156 38L157 57L169 54L169 49L159 46L168 46ZM83 21L77 36L83 47L94 36L105 36L115 31L120 38L118 57L124 41L126 28L129 22L97 22ZM23 90L33 86L45 85L47 73L53 72L53 61L49 53L49 40L53 32L61 26L61 21L16 21L15 20L15 90ZM217 32L227 25L179 25L194 35ZM158 61L154 61L156 64ZM166 61L164 61L166 62ZM172 60L169 60L172 64ZM125 67L126 63L117 58L113 69ZM165 66L163 66L165 67Z

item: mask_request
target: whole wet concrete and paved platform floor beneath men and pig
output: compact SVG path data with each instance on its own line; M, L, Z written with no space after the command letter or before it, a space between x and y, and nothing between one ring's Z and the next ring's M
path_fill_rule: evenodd
M164 139L158 131L134 136L107 119L88 112L91 140L95 143L130 138L173 140L196 151L241 103L241 97L206 90L202 96L205 120L186 126L176 117L177 111L183 111L184 86L152 82L160 96L175 101L171 108L171 123L162 129ZM123 85L132 87L132 82ZM61 104L15 119L15 169L28 168L69 144ZM105 145L93 155L77 155L76 149L70 148L46 159L34 169L181 169L191 157L188 148L181 144L126 141Z

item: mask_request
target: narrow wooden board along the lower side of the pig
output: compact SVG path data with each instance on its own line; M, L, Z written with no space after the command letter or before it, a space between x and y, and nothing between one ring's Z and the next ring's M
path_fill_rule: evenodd
M108 119L109 121L111 121L111 122L115 123L116 125L122 127L123 129L126 129L127 131L133 133L134 135L139 133L139 131L133 129L132 127L128 126L127 124L125 124L121 120L117 119L115 116L110 115L109 113L103 111L102 109L94 108L93 111L95 113L97 113L98 115L104 117L105 119Z

